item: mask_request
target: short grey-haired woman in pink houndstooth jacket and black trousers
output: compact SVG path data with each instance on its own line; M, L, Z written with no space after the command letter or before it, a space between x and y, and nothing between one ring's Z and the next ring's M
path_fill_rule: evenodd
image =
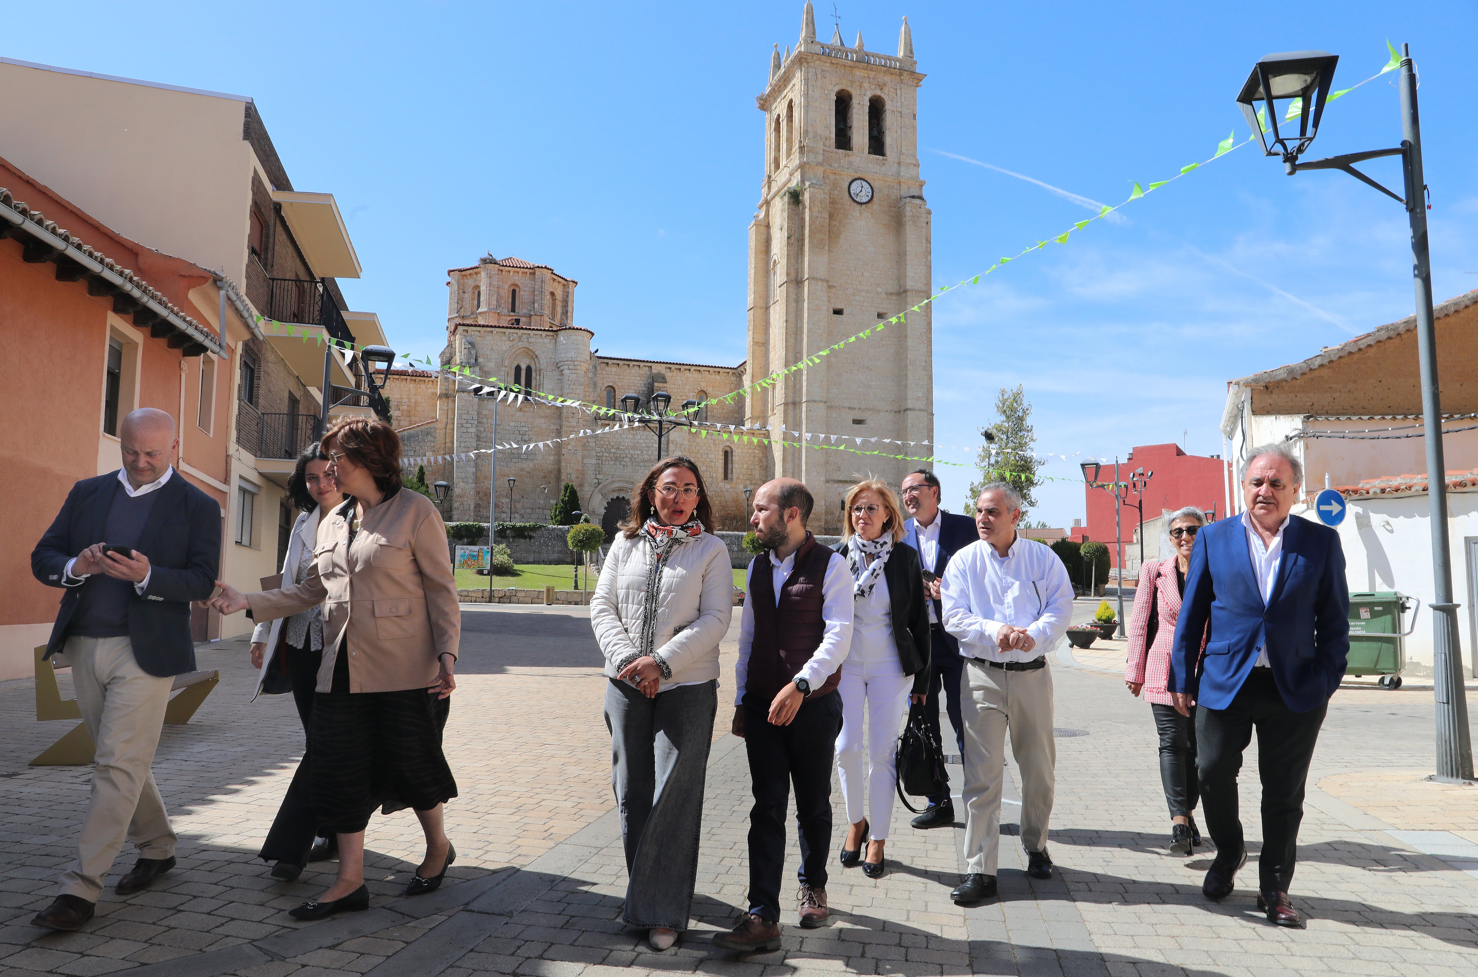
M1196 777L1196 714L1181 715L1165 690L1171 667L1171 644L1175 621L1181 613L1185 593L1185 571L1190 566L1196 532L1206 525L1206 516L1194 505L1174 513L1168 560L1148 560L1140 568L1140 590L1134 596L1129 616L1129 659L1123 681L1129 692L1150 702L1154 726L1160 733L1160 782L1165 803L1171 809L1171 854L1190 856L1202 844L1200 831L1191 811L1200 798ZM1202 650L1206 637L1202 636Z

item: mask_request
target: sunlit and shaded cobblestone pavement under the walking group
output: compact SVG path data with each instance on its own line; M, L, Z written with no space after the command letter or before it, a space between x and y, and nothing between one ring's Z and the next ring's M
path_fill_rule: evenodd
M1307 930L1278 930L1252 906L1253 863L1239 876L1237 893L1212 905L1200 896L1210 853L1166 854L1148 707L1123 690L1122 665L1094 667L1067 655L1054 661L1061 730L1054 879L1027 879L1020 847L1007 840L1001 900L959 909L947 897L958 881L959 826L913 831L899 806L888 875L871 881L859 869L834 871L834 925L786 927L777 953L712 950L708 937L738 916L748 878L748 770L740 741L723 733L721 708L692 927L675 949L652 953L641 934L621 925L625 872L600 720L605 680L585 610L469 607L464 621L448 726L463 794L448 806L455 884L401 899L421 840L409 813L377 817L370 828L374 908L318 924L296 924L282 910L319 891L333 866L313 866L287 885L254 859L302 732L290 702L244 702L250 673L241 650L217 644L201 658L222 668L220 687L191 724L166 730L155 763L182 837L180 868L133 897L109 890L83 933L31 928L30 915L50 900L56 874L72 857L90 769L25 767L68 726L31 718L30 683L0 684L0 723L12 745L0 769L0 971L1262 977L1478 970L1478 835L1462 820L1472 811L1465 792L1475 788L1441 788L1438 800L1423 794L1441 786L1420 779L1432 764L1429 692L1349 689L1336 696L1310 777L1293 885L1310 922ZM726 675L732 656L729 643ZM1255 754L1253 746L1243 779L1253 862ZM950 770L958 788L959 769ZM1014 770L1012 777L1018 782ZM1007 795L1017 797L1014 786ZM841 822L840 797L835 810ZM1005 820L1011 810L1008 804ZM1002 829L1014 834L1015 826ZM797 859L792 842L788 872ZM129 865L126 853L115 872Z

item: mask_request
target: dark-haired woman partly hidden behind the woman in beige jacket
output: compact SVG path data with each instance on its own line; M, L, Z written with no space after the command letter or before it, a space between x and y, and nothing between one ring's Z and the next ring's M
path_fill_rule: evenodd
M302 584L306 579L307 571L313 566L318 517L344 501L338 483L328 472L328 455L322 454L318 442L313 442L297 457L297 467L287 480L288 498L302 511L293 523L293 532L288 534L287 557L282 560L284 584ZM309 717L313 714L313 687L318 684L322 656L324 615L319 607L291 618L263 621L251 633L251 664L259 670L257 693L263 690L265 683L269 693L285 692L281 687L285 677L291 683L304 735ZM303 874L307 862L334 857L333 837L318 845L313 844L316 828L313 809L309 804L309 763L304 748L303 760L293 775L293 783L259 853L260 859L275 863L273 878L291 882Z

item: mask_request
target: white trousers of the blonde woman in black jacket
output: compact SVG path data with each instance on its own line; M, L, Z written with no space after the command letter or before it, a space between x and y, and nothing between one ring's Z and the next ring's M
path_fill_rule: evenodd
M913 678L902 674L897 655L891 661L842 662L841 736L837 738L837 775L847 803L847 823L868 819L872 841L885 841L893 822L894 752L899 729L909 708ZM862 709L868 708L863 729ZM868 803L863 806L863 788ZM868 841L868 838L863 838Z

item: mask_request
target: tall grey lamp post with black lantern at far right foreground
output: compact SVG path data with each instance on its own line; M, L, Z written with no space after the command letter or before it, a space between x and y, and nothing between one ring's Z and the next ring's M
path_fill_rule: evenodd
M1299 163L1299 157L1314 142L1318 121L1324 114L1330 83L1335 77L1336 55L1327 52L1296 52L1268 55L1252 68L1237 103L1252 130L1262 140L1265 155L1278 155L1289 176L1299 170L1344 170L1376 188L1406 207L1411 225L1411 278L1416 288L1416 349L1422 375L1422 424L1426 440L1426 488L1431 505L1432 532L1432 671L1437 698L1437 779L1460 783L1474 776L1472 742L1468 732L1468 699L1463 692L1463 659L1457 643L1457 607L1453 602L1453 568L1447 541L1447 466L1443 458L1443 408L1437 383L1437 325L1432 318L1432 263L1426 238L1426 182L1422 173L1422 126L1416 106L1416 65L1411 52L1401 44L1401 145L1392 149L1348 152ZM1277 102L1302 99L1299 135L1284 136L1278 130ZM1312 106L1310 105L1312 99ZM1258 102L1264 103L1273 139L1258 120ZM1312 123L1312 126L1310 124ZM1355 163L1379 157L1401 157L1404 197L1392 194L1354 167Z

